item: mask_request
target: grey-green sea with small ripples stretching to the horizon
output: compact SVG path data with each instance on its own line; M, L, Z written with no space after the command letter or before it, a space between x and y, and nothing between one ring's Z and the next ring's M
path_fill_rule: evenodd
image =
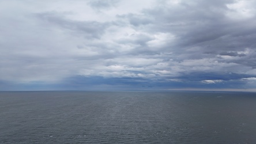
M256 143L256 93L0 92L0 143Z

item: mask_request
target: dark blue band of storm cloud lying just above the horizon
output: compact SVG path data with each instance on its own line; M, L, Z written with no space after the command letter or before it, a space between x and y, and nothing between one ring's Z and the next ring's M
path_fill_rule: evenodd
M232 75L232 74L231 74ZM175 89L175 88L210 88L210 89L222 89L222 88L229 88L229 89L246 89L246 81L234 81L228 80L231 77L235 77L235 74L229 76L229 78L225 78L226 81L219 82L219 84L204 84L199 79L193 79L191 77L198 76L198 75L187 75L188 77L184 76L184 82L178 81L166 81L164 79L160 79L159 81L152 81L150 79L145 78L130 78L130 77L123 77L123 78L104 78L104 77L84 77L84 76L76 76L66 78L62 84L59 86L61 89L92 89L98 87L98 89L104 89L105 86L108 86L110 89L145 89L145 90L153 90L153 89ZM220 74L215 74L212 77L206 76L207 78L223 78L224 75L220 76ZM242 75L241 75L242 76ZM247 75L249 76L249 75ZM205 78L206 78L205 77ZM188 78L188 79L187 79ZM236 79L236 77L235 77ZM247 86L248 87L248 86ZM254 88L253 86L251 88Z

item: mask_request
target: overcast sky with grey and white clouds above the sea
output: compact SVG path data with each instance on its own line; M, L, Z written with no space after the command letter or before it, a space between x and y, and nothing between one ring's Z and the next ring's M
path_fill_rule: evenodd
M0 0L0 90L256 91L254 0Z

